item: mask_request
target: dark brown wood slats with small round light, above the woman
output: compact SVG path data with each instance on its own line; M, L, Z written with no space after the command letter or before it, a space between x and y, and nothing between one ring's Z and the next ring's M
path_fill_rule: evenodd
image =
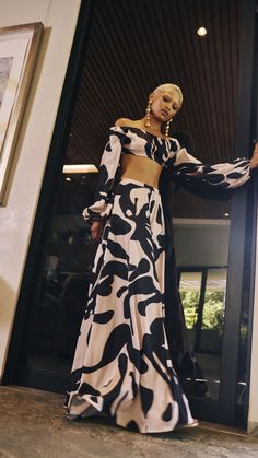
M98 165L108 127L143 116L149 93L164 82L179 84L185 97L172 132L189 131L201 161L235 157L239 27L239 0L96 1L66 163ZM180 192L174 213L223 218L228 205Z

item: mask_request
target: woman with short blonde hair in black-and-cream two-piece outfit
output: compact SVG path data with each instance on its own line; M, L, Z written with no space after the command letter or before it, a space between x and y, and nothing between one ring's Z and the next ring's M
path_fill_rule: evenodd
M201 164L168 137L181 104L180 89L163 84L150 95L142 119L122 118L110 129L96 201L83 212L99 246L71 372L70 419L102 412L141 433L198 424L174 372L165 332L159 178L164 168L215 189L235 188L249 179L258 153L250 161Z

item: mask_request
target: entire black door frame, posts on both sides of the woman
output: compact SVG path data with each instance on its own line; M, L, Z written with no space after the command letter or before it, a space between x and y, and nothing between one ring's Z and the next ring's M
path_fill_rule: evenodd
M254 90L254 50L255 43L255 17L256 0L242 0L243 9L243 36L241 39L241 66L239 66L239 93L237 114L236 157L244 156L251 151L251 138L254 128L251 125L251 89ZM55 209L52 196L58 195L60 189L60 176L62 168L63 152L69 140L72 113L75 104L80 77L86 55L87 39L91 23L94 15L94 0L82 0L81 11L68 71L60 99L54 137L50 145L48 163L43 183L43 189L38 202L37 214L28 249L21 294L9 349L8 362L3 376L3 384L20 383L42 389L56 389L66 383L60 375L50 372L28 369L22 373L19 364L20 349L24 345L24 329L30 316L34 317L33 303L35 294L37 271L43 262L45 235L48 231L47 221ZM254 86L254 87L253 87ZM238 351L233 354L232 349L238 349L239 334L232 329L239 329L242 313L242 287L244 272L244 253L246 244L246 211L247 211L248 186L235 190L232 199L232 230L228 249L228 270L226 290L226 313L222 352L221 380L219 401L190 398L190 404L196 416L202 416L207 421L234 424L236 418L236 379L238 367ZM255 205L254 205L255 212ZM46 216L47 215L47 216ZM255 245L255 231L253 232ZM251 260L255 273L255 257ZM37 266L37 269L35 269ZM253 307L254 279L250 279L250 310ZM251 313L251 312L250 312ZM33 319L33 318L32 318ZM250 348L249 348L250 351ZM249 357L249 356L248 356ZM249 374L248 374L249 377ZM50 388L47 384L51 383ZM249 383L249 381L248 381ZM248 385L247 383L247 385Z

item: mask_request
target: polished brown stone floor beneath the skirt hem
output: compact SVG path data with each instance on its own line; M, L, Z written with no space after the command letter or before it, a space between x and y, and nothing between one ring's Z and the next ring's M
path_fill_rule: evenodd
M198 428L141 435L104 419L69 421L63 397L0 387L0 457L4 458L258 458L258 438L201 423Z

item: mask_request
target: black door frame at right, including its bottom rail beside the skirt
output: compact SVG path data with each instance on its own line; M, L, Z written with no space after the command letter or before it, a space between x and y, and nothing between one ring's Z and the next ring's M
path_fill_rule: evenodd
M237 104L237 122L236 122L236 157L247 156L253 150L254 139L257 138L256 129L256 110L257 110L257 91L256 91L256 72L257 57L255 44L257 43L256 26L256 0L242 0L242 37L241 37L241 56L239 56L239 85L238 85L238 104ZM246 51L246 50L250 51ZM255 175L255 174L254 174ZM251 237L248 240L246 221L248 193L253 190L253 227ZM221 387L219 401L189 398L194 414L198 418L201 415L207 421L237 424L246 427L248 413L248 392L249 392L249 375L250 375L250 339L251 332L248 333L247 345L247 380L246 392L247 399L245 403L244 418L238 419L236 406L237 396L237 376L238 376L238 349L241 342L239 326L242 319L243 305L243 278L244 278L244 260L247 244L251 245L251 275L249 279L249 324L253 322L254 308L254 290L255 290L255 247L257 231L257 204L254 196L257 196L257 177L253 176L253 183L244 188L236 189L232 198L231 209L231 234L228 246L228 263L227 263L227 282L226 282L226 303L225 303L225 324L222 347L221 363ZM249 327L251 328L251 326ZM232 330L236 330L233 332ZM232 349L235 349L233 351Z

